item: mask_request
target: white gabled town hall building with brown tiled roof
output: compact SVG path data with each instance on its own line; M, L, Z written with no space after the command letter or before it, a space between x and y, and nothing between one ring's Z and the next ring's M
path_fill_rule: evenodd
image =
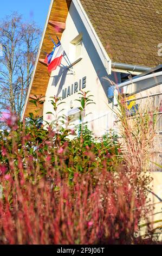
M114 127L114 84L135 101L155 106L162 100L162 10L160 0L51 0L23 118L34 112L30 96L45 95L40 114L52 121L50 97L62 97L69 123L79 124L80 90L90 91L95 104L86 109L89 129L101 136ZM59 37L65 58L51 73L44 63ZM161 40L161 41L160 41ZM157 67L157 68L155 68ZM133 80L129 80L129 75ZM162 121L159 110L154 161L161 162ZM161 169L154 168L155 190L162 198Z

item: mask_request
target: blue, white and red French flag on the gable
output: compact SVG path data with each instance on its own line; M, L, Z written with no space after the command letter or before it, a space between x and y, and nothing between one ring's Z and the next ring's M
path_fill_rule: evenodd
M56 70L57 66L60 66L62 57L64 56L64 50L62 48L61 42L55 44L53 51L47 54L44 62L48 65L48 71L51 72Z

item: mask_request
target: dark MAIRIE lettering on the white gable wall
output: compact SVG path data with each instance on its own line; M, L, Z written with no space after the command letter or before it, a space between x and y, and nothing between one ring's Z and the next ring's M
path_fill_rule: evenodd
M86 80L87 77L83 77L79 80L79 82L75 82L72 86L68 86L68 88L62 90L62 99L66 99L66 97L71 96L77 93L79 90L86 88Z

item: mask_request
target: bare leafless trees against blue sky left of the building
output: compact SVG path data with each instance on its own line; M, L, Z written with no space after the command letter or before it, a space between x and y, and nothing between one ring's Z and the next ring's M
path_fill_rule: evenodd
M17 13L7 16L0 23L0 44L3 47L0 63L1 111L9 107L21 117L40 34L34 22L24 24Z

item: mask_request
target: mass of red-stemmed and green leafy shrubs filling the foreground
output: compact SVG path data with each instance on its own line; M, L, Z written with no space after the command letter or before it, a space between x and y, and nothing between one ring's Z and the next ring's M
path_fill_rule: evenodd
M129 167L118 138L87 143L82 130L69 139L68 127L44 129L38 118L0 132L0 243L142 242L136 233L150 211L150 177Z

